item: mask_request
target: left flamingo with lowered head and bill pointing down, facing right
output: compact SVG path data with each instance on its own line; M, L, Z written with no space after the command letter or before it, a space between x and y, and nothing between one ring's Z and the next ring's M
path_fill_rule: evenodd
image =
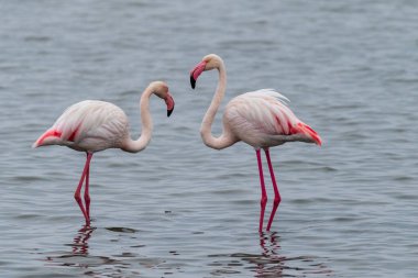
M174 100L168 86L163 81L154 81L144 90L140 101L142 133L138 140L132 140L129 132L129 121L122 109L99 100L85 100L67 108L54 125L43 133L32 147L62 145L87 154L81 178L75 191L76 199L86 220L90 224L89 171L90 160L96 152L107 148L120 148L129 153L143 151L151 141L153 131L150 114L150 97L156 94L167 105L167 116L174 109ZM80 191L85 186L85 204Z

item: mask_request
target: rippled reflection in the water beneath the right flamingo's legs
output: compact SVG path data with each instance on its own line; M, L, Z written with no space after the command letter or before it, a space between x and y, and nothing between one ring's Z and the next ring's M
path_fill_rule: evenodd
M261 254L234 253L209 255L217 260L209 264L216 267L212 275L254 273L254 277L328 277L332 275L323 263L317 262L317 257L297 256L287 257L279 255L279 236L276 232L260 233Z

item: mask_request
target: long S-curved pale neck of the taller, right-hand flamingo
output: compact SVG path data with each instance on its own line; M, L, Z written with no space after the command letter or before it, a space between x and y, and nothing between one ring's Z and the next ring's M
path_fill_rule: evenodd
M215 115L217 114L218 108L221 104L223 96L226 93L227 88L227 70L222 60L220 60L218 67L219 71L219 81L217 86L217 90L212 98L212 102L210 103L208 111L204 116L204 121L200 125L200 135L204 140L204 143L211 148L221 149L228 147L235 143L235 141L227 134L226 127L223 126L223 132L219 137L213 137L211 132L212 122L215 120Z

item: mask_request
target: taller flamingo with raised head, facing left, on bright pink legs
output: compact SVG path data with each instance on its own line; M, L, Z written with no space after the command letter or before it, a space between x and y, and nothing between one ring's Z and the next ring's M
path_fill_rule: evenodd
M287 102L289 100L273 89L261 89L233 98L224 109L222 134L219 137L215 137L211 134L211 125L227 87L227 71L222 58L216 54L205 56L191 69L190 84L191 88L195 89L196 80L200 74L212 69L218 69L219 81L213 99L200 126L201 138L208 147L215 149L229 147L240 141L254 147L262 192L260 201L260 232L263 230L264 211L267 203L260 152L261 148L264 149L275 194L266 229L266 231L270 231L277 207L282 200L270 157L270 147L295 141L321 145L321 138L309 125L296 118L288 107Z

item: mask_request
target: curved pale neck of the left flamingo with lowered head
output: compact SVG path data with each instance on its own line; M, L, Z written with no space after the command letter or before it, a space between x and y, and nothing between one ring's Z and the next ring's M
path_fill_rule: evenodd
M142 131L141 136L138 140L128 138L123 151L130 153L138 153L144 149L150 141L153 132L153 121L150 114L150 97L153 93L151 88L146 88L145 91L141 96L140 100L140 110L141 110L141 123Z

